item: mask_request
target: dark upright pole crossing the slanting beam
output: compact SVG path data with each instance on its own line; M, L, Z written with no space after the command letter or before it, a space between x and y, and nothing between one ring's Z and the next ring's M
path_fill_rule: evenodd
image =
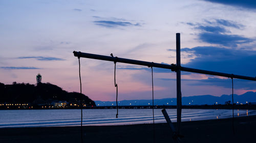
M181 124L181 77L180 77L180 33L176 33L176 65L177 65L177 134Z

